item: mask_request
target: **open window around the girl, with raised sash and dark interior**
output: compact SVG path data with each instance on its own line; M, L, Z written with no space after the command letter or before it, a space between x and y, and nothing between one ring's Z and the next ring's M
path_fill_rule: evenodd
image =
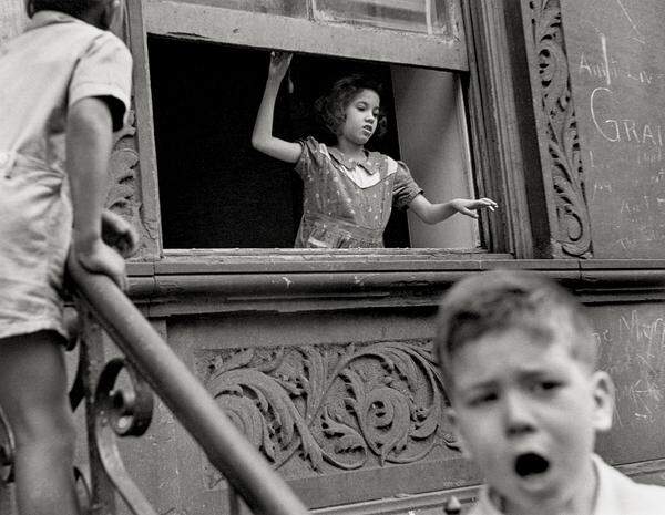
M477 147L482 109L469 90L461 1L144 1L162 248L293 247L300 178L250 146L270 49L296 54L275 134L316 135L314 100L339 76L370 73L390 124L376 150L405 161L431 202L497 198ZM492 239L484 216L428 226L396 209L385 234L387 247L510 247Z

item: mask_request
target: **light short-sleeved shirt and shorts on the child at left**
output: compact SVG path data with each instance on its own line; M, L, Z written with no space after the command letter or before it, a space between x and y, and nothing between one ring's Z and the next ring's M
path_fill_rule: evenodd
M103 97L117 130L131 82L125 44L61 12L37 12L24 33L0 45L0 338L66 336L68 112L79 100Z

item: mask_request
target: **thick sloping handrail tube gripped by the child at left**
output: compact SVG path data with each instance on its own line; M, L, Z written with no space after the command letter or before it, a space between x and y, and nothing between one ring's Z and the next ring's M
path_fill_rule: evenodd
M85 271L73 259L68 268L76 293L100 325L254 513L308 514L286 482L111 279Z

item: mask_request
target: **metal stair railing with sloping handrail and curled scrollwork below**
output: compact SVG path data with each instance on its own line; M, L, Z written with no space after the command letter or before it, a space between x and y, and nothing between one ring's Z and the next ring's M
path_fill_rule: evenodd
M150 385L229 483L232 515L241 512L237 494L257 515L308 514L286 482L111 279L90 274L73 260L68 269L82 318L80 365L70 401L74 409L83 398L86 404L91 485L88 486L82 474L76 476L85 485L88 511L115 514L114 493L117 492L132 513L156 514L125 471L116 446L117 435L141 435L150 425L153 409ZM98 367L99 370L104 360L102 329L125 358L110 360L94 374L92 369ZM131 391L115 388L123 370L132 382ZM12 445L11 432L8 428L4 430L7 435L0 445L0 456L3 474L8 475Z

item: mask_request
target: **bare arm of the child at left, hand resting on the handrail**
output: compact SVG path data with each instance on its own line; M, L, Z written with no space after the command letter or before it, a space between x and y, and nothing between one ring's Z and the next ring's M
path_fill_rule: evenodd
M102 209L112 146L111 112L98 97L85 97L69 110L66 168L72 190L72 253L89 271L104 274L126 287L124 259L102 240Z

